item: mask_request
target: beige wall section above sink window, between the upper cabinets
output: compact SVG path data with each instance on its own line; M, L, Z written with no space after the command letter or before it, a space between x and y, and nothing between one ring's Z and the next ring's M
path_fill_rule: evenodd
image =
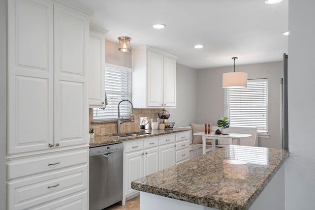
M106 36L106 35L105 35ZM117 39L118 42L118 39ZM118 50L119 43L105 40L105 62L115 65L132 68L131 52L121 52Z

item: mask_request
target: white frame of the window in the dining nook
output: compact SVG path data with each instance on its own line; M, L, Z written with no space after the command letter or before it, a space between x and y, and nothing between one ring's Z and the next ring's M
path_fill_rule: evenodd
M261 108L261 107L264 107L265 108L265 114L266 114L266 117L265 117L265 126L263 127L263 129L259 129L259 127L257 127L257 131L259 134L268 134L268 79L267 78L260 78L260 79L248 79L248 84L249 83L265 83L265 99L263 100L265 105L253 105L253 104L249 104L247 106L243 106L240 105L240 106L234 106L234 108ZM235 90L244 90L246 88L238 88L238 89L233 89L234 91ZM230 119L230 98L229 98L229 93L230 93L230 89L225 89L224 91L224 114L225 116L227 116ZM261 95L263 95L263 93L261 93ZM263 109L263 108L262 108ZM233 118L232 118L233 120ZM237 126L237 127L256 127L256 126L246 126L246 125L242 125L242 124L234 124L233 123L230 123L231 126Z

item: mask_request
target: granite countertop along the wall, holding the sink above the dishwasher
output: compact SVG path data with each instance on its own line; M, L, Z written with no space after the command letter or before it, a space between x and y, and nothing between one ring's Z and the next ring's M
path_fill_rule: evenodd
M113 134L104 134L104 135L95 135L93 139L90 140L90 147L96 147L106 144L112 144L117 142L124 142L134 139L147 138L152 136L159 136L164 134L171 134L177 132L189 131L187 128L173 128L173 129L165 129L165 130L139 130L128 133L113 133ZM143 135L132 136L132 137L117 137L117 135L126 135L130 133L143 133Z

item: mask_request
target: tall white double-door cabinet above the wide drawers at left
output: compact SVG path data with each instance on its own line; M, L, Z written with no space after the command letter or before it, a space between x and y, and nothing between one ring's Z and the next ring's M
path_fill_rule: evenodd
M8 154L88 144L89 15L8 1Z

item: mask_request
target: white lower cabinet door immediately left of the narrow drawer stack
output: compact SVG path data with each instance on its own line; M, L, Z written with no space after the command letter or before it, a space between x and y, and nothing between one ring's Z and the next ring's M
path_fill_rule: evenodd
M175 143L159 147L159 170L175 165Z

